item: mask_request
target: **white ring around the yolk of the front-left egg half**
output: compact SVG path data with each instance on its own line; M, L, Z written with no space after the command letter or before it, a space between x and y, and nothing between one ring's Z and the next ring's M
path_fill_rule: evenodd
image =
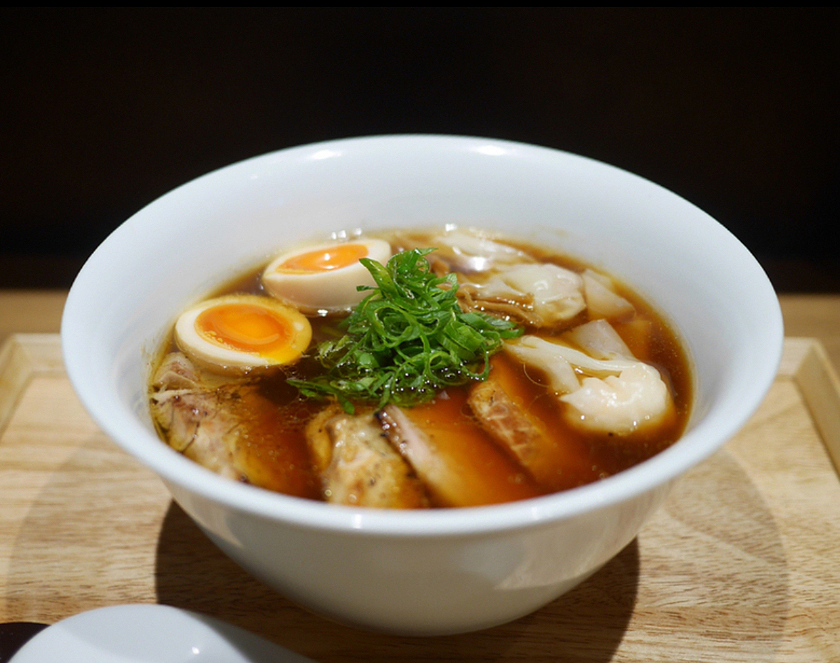
M196 321L202 312L213 306L226 304L256 305L281 316L289 322L292 337L286 344L288 352L284 358L265 357L259 352L241 350L220 345L202 336L196 329ZM255 368L292 363L302 355L312 339L312 326L306 316L281 301L260 295L224 295L192 306L181 314L175 325L175 342L189 358L217 373L249 373Z

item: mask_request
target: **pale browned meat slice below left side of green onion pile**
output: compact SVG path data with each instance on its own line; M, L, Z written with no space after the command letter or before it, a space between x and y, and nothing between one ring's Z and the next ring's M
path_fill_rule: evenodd
M381 509L428 507L423 484L367 412L333 405L307 425L307 444L328 502Z

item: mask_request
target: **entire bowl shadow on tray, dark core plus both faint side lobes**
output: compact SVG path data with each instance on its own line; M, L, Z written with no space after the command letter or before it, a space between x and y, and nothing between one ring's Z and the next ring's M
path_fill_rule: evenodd
M105 466L115 472L111 481L102 478ZM440 638L370 634L298 608L224 556L160 481L101 433L49 469L8 541L0 592L7 619L51 623L107 604L156 600L225 619L321 663L759 663L778 660L795 637L785 627L795 608L795 541L789 551L763 494L726 448L677 483L638 538L570 593L511 624ZM115 502L121 495L126 501ZM139 522L128 525L124 509L136 509ZM146 568L146 541L154 546L151 591L132 576L135 566ZM134 556L126 557L126 545L136 547ZM86 584L92 565L100 580Z

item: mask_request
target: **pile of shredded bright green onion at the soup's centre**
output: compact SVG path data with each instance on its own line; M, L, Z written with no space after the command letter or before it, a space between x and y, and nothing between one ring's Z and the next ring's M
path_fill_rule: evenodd
M484 380L490 357L522 330L513 322L461 311L458 277L433 274L433 248L396 253L382 265L362 258L376 287L342 321L346 333L322 342L315 357L326 373L290 379L309 398L334 397L349 413L354 402L417 405L449 386Z

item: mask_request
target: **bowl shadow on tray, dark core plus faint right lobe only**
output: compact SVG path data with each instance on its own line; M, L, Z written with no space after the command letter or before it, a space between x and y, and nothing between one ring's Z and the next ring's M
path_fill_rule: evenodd
M536 613L477 633L401 638L328 622L242 571L176 504L160 530L155 581L160 603L227 619L322 663L360 652L365 660L758 662L777 660L791 637L794 564L764 495L724 448L686 474L600 572Z

